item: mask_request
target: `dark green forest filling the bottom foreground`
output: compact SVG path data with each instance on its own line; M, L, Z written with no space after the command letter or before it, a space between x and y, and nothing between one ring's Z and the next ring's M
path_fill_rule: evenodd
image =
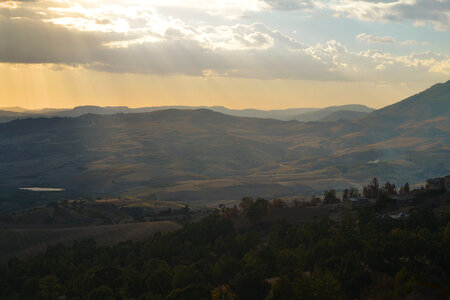
M255 210L260 209L259 204ZM0 267L1 299L444 299L450 216L287 222L237 231L214 214L113 247L84 240ZM267 227L265 227L267 228Z

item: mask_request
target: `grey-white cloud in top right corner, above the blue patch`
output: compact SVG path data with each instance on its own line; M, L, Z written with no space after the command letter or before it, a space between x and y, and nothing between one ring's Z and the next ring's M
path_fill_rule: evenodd
M430 23L436 30L450 30L450 1L445 0L338 0L330 8L338 17L378 22L412 21L416 26Z

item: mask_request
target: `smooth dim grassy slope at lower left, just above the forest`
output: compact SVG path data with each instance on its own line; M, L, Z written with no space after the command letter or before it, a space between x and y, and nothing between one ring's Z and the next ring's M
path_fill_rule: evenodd
M70 245L84 238L101 245L112 245L127 240L148 238L157 232L168 232L181 228L171 221L84 226L57 229L3 229L0 230L0 263L10 258L26 258L47 249L50 245Z

